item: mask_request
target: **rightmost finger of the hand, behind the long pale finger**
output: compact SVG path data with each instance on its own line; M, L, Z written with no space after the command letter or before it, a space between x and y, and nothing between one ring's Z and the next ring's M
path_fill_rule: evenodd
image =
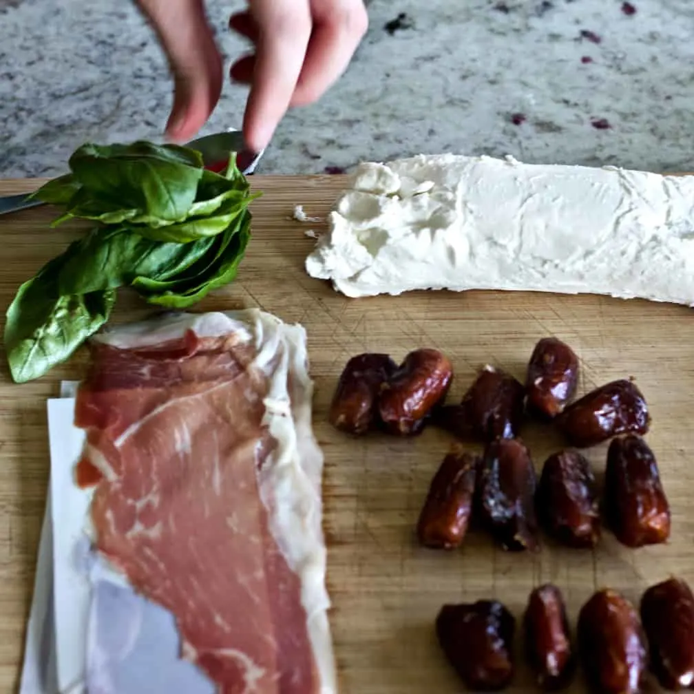
M361 0L313 0L314 31L291 103L319 99L347 69L369 27Z

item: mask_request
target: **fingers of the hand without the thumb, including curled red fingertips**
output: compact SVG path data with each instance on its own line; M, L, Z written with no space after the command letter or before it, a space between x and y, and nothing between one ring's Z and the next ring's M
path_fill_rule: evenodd
M252 151L270 141L291 106L320 98L346 70L368 28L362 0L249 0L230 27L255 44L231 67L251 85L244 137Z

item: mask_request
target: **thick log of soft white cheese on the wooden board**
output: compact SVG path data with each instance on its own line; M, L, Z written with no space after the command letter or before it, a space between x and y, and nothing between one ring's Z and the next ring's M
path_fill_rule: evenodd
M694 305L694 176L417 155L357 167L307 257L346 296L414 289Z

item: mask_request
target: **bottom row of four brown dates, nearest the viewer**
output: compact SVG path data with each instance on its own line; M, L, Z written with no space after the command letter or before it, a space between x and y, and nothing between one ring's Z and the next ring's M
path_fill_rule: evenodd
M641 616L611 589L594 593L579 611L577 643L561 591L546 584L530 593L523 618L525 659L545 691L568 686L580 661L591 691L635 694L650 669L663 687L694 684L694 595L682 579L651 586ZM473 691L497 691L514 676L516 620L496 600L447 604L437 637L459 677Z

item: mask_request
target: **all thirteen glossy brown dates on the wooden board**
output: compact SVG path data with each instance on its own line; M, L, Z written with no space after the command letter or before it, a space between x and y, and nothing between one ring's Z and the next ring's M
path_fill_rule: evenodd
M357 435L382 430L412 436L430 423L460 441L484 445L482 455L453 446L443 459L417 523L426 547L459 547L473 515L507 550L539 548L540 525L564 545L594 547L601 532L599 495L591 466L577 449L610 439L602 516L624 545L665 542L670 508L656 459L642 438L650 428L643 394L632 380L622 379L572 403L578 374L573 350L544 338L530 357L525 384L486 366L459 404L446 405L453 377L446 355L414 350L398 365L388 355L367 353L346 364L329 418L337 429ZM550 455L539 480L519 438L529 415L554 423L571 446ZM533 591L524 625L527 660L539 683L564 686L575 655L559 589L545 585ZM469 688L489 691L510 682L515 620L500 602L444 605L436 629ZM638 691L649 660L663 686L694 686L694 596L682 580L648 589L641 619L623 595L598 591L581 609L577 632L595 691Z

